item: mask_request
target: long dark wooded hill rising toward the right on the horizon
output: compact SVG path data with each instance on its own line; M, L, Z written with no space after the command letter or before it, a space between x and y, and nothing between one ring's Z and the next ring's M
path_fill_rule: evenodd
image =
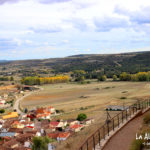
M3 65L26 68L41 66L54 69L55 72L69 72L73 70L103 71L106 75L121 72L136 73L150 70L150 52L135 52L122 54L82 54L65 58L3 61Z

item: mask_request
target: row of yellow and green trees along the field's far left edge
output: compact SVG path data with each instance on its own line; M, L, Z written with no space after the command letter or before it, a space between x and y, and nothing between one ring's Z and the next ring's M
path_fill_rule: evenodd
M69 81L69 76L55 76L55 77L24 77L21 80L25 85L42 85L53 83L65 83Z

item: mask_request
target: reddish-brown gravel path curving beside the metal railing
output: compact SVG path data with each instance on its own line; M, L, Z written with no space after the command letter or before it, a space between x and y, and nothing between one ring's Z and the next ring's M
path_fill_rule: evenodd
M104 150L129 150L138 129L142 125L142 121L143 115L129 122L116 135L114 135L112 139L110 139Z

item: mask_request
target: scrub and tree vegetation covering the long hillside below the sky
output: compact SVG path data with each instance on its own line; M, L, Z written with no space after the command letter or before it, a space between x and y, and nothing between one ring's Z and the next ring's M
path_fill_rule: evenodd
M5 62L1 63L1 69L5 69L5 74L12 70L13 74L17 73L22 76L36 76L37 73L58 74L84 70L92 73L93 76L98 72L105 74L109 78L113 77L114 74L119 77L122 72L130 74L147 72L150 70L149 58L150 52L76 55L65 58Z

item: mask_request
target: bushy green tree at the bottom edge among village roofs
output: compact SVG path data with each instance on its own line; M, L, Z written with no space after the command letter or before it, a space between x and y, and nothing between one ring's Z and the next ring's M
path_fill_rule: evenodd
M34 137L32 142L32 150L47 150L48 143L53 142L53 139L46 137Z

